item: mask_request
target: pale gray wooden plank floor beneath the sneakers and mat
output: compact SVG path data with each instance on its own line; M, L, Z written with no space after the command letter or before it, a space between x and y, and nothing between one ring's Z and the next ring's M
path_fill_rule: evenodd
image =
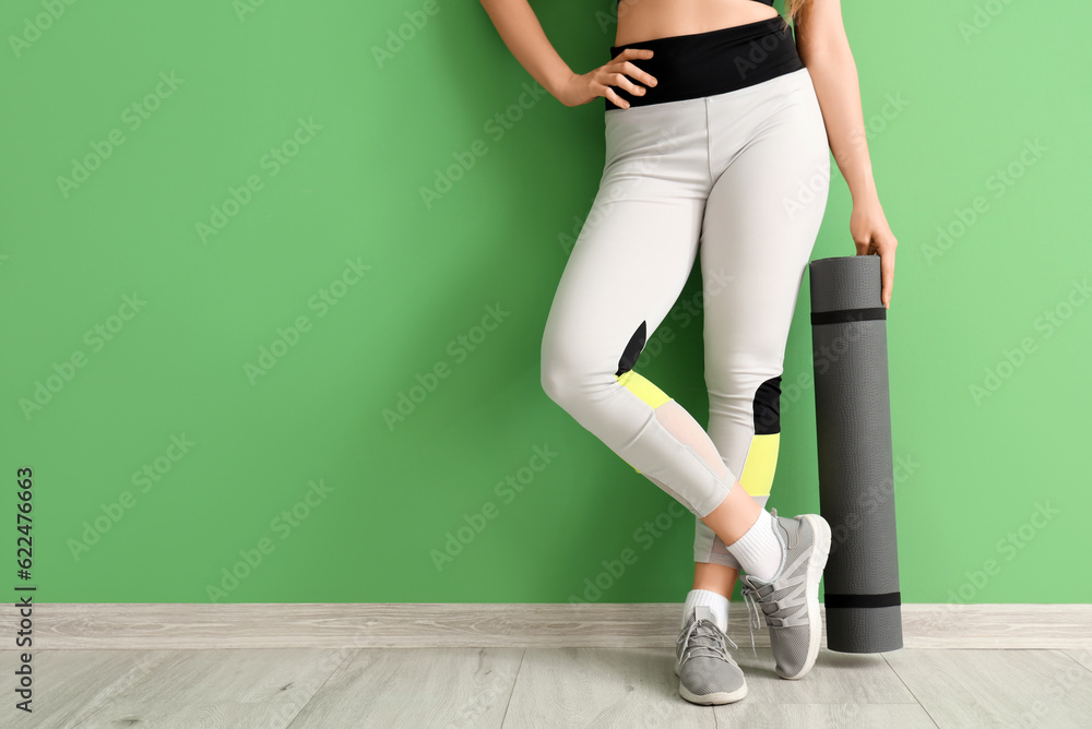
M0 726L1092 727L1085 648L823 649L786 681L733 637L749 694L719 707L679 697L669 648L38 650L33 715L9 696Z

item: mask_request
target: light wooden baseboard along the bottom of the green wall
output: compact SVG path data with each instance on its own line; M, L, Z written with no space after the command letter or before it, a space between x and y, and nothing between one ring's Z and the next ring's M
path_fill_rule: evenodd
M34 606L33 628L39 650L668 647L680 611L681 602L51 602ZM1092 648L1092 605L909 603L902 618L905 648ZM729 622L749 647L741 602ZM770 645L764 624L755 645Z

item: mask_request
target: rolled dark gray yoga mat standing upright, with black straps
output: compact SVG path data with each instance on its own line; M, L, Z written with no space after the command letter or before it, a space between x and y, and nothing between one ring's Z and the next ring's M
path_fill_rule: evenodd
M895 650L902 600L880 259L819 259L808 268L819 511L831 528L827 647Z

